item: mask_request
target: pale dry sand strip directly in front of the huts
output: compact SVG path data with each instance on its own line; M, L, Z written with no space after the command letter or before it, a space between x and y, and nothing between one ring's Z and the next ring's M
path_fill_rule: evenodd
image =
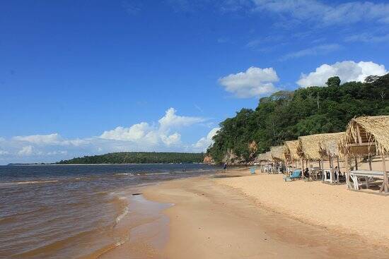
M389 197L348 191L345 185L320 181L283 181L279 174L260 174L219 179L220 184L238 189L257 204L303 222L389 246Z

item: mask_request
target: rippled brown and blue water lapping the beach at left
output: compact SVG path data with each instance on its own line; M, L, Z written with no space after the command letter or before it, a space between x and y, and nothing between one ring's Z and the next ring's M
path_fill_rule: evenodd
M139 186L216 169L205 164L0 166L0 258L98 254L122 242L115 226L136 215L132 193Z

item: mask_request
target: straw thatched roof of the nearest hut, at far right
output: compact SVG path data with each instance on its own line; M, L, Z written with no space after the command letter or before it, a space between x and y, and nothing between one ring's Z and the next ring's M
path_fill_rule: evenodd
M339 147L342 153L349 155L388 155L389 116L362 116L352 119Z

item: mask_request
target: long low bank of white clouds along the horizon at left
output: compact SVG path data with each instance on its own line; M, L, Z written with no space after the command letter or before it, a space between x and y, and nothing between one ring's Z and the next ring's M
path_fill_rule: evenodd
M156 122L118 126L98 137L62 138L58 133L0 138L1 163L55 162L60 159L123 151L192 151L192 143L182 143L180 129L207 121L197 116L181 116L167 109ZM204 125L202 125L204 126Z

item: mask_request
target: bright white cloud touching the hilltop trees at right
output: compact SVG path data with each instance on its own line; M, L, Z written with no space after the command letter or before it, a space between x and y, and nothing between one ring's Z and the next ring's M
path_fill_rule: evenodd
M339 76L342 83L350 81L363 82L367 76L377 75L383 76L386 71L385 66L373 63L372 61L342 61L332 65L323 64L310 72L308 75L301 74L297 84L301 87L308 87L312 85L323 86L327 79L332 76Z

